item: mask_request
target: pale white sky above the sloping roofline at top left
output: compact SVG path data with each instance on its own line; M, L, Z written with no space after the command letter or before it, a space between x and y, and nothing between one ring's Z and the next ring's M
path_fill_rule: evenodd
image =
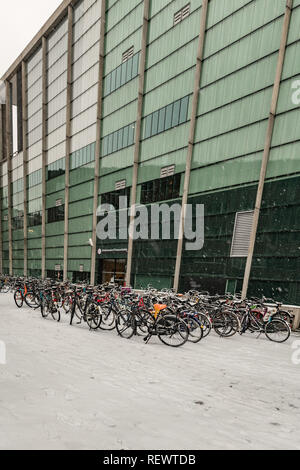
M62 0L0 0L0 77Z

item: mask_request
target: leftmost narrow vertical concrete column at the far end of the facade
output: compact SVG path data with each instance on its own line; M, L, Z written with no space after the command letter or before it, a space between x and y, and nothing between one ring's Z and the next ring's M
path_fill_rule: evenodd
M7 199L8 199L8 241L9 241L9 274L13 274L13 240L12 240L12 113L11 84L6 85L6 158L7 158Z

